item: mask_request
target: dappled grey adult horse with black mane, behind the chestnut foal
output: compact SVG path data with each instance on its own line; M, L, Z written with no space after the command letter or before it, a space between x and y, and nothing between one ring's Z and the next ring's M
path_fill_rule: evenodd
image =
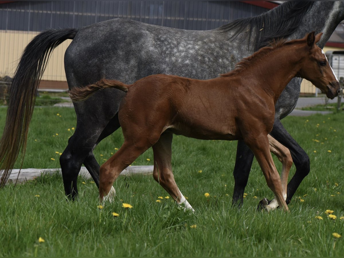
M73 39L65 53L69 89L97 82L101 78L131 84L151 74L175 74L197 79L217 77L234 68L273 39L297 39L309 31L324 32L323 47L344 18L343 2L285 2L262 15L238 19L208 31L190 31L113 19L79 29L49 29L26 47L15 73L8 115L0 145L0 169L6 182L14 161L25 150L35 93L51 51L66 39ZM37 68L38 67L38 68ZM309 173L309 158L283 128L280 119L295 107L300 78L293 78L276 104L271 135L289 148L296 172L288 184L289 203L303 178ZM93 155L97 144L117 130L118 106L125 93L118 89L97 92L85 102L74 103L77 126L60 157L67 196L77 194L77 175L84 163L99 186L99 164ZM233 203L243 202L253 154L238 142L234 168Z

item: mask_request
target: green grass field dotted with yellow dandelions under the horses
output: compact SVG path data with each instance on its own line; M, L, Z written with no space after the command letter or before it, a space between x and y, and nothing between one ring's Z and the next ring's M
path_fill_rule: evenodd
M6 109L0 108L0 125L5 116ZM256 212L261 198L272 198L256 161L243 208L232 207L235 141L174 136L175 180L194 214L165 198L168 194L152 176L120 176L114 184L115 202L103 208L97 207L92 180L80 178L79 200L67 202L61 176L42 176L0 190L0 255L342 256L344 112L287 117L282 122L311 160L311 172L289 204L290 213ZM59 168L59 153L75 126L73 109L36 108L23 168ZM122 141L118 130L101 142L95 150L99 163ZM277 159L275 163L280 171ZM152 164L151 149L133 163ZM293 167L290 178L294 171ZM132 208L123 208L122 203ZM327 209L335 219L325 214Z

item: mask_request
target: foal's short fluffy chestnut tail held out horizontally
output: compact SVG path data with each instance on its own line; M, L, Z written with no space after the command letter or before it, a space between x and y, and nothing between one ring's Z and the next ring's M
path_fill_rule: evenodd
M123 92L127 92L130 86L131 85L121 83L118 80L101 79L95 84L90 84L82 88L74 87L69 91L69 97L73 101L80 101L89 98L92 94L96 93L97 90L116 88Z

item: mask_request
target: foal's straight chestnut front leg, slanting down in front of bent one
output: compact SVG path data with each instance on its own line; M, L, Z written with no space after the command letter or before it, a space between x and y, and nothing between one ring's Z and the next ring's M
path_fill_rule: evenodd
M260 134L257 137L250 137L250 139L244 139L246 144L250 147L252 152L260 165L261 170L265 176L267 185L275 194L278 205L283 207L285 211L288 211L288 206L283 197L282 183L277 172L275 163L273 163L268 136Z

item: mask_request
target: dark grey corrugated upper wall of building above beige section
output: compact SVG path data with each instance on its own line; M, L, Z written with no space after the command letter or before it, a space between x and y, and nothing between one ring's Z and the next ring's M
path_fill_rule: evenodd
M265 11L238 1L22 1L0 4L0 30L78 28L118 17L177 29L210 30Z

